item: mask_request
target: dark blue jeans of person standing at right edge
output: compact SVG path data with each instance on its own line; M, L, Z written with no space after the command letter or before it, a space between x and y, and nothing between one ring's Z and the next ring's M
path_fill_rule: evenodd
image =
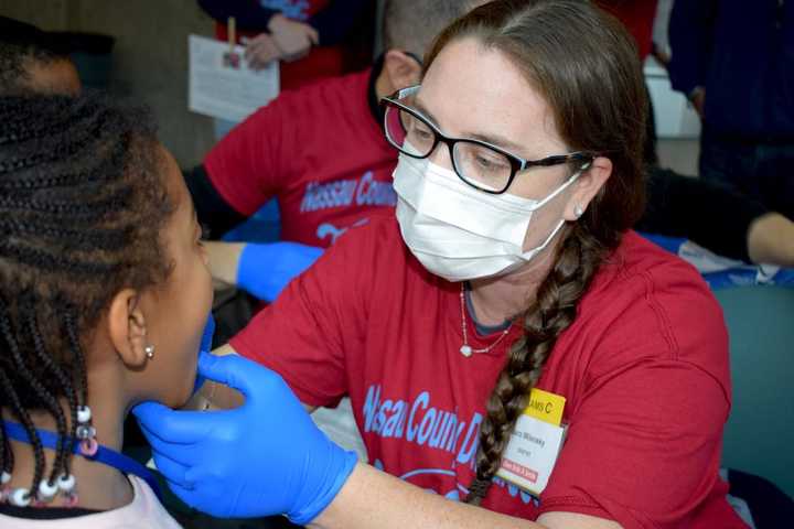
M730 185L772 210L794 218L794 142L720 138L704 126L700 177Z

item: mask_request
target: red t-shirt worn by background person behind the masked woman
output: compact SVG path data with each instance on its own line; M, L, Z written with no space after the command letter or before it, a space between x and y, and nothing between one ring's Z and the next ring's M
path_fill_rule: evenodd
M369 71L286 91L204 159L221 196L253 215L277 196L281 238L329 247L376 215L394 215L397 151L368 105Z

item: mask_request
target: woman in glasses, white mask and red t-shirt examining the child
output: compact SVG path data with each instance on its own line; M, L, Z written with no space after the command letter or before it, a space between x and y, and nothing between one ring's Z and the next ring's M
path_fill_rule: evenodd
M224 350L266 367L202 358L211 400L245 403L137 410L172 488L328 528L743 527L718 477L720 311L629 230L642 83L589 2L501 0L447 29L421 86L384 101L396 219L351 229ZM344 395L369 465L299 403Z

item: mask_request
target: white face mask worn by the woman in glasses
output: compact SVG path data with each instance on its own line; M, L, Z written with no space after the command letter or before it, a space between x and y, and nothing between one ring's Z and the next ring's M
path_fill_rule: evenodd
M397 220L411 253L448 281L504 274L537 256L562 228L561 219L538 247L523 250L533 213L581 174L573 174L543 201L492 195L462 182L454 171L400 154L394 172Z

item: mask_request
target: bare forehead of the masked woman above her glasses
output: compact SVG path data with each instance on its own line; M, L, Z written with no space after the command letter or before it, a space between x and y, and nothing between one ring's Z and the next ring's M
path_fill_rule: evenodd
M554 114L502 52L474 39L447 45L428 68L417 102L447 133L501 136L527 145L527 158L564 148Z

